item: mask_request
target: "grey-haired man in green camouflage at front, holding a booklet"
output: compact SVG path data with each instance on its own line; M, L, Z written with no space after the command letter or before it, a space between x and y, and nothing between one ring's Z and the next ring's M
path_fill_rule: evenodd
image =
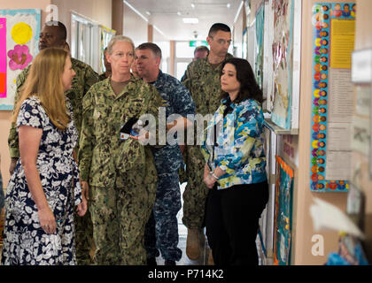
M138 141L145 134L127 139L120 129L143 114L151 114L157 124L163 102L156 88L131 75L134 44L128 37L112 38L107 59L112 76L90 88L82 102L78 156L81 185L89 187L93 260L94 264L146 264L144 226L155 202L158 176L151 144Z

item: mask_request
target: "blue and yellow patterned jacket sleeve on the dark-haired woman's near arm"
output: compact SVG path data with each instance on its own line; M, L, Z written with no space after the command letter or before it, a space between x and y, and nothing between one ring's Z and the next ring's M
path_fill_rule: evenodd
M232 150L222 158L218 158L218 166L231 174L250 157L256 139L260 136L260 125L263 119L260 108L253 107L239 114L235 121L234 141Z

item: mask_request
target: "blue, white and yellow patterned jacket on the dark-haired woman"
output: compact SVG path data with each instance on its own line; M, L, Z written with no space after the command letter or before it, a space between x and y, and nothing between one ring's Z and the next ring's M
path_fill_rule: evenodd
M231 111L223 118L227 105ZM209 167L213 170L219 166L226 172L218 180L219 189L267 180L263 123L263 112L257 101L246 99L231 103L229 98L222 101L205 129L202 145Z

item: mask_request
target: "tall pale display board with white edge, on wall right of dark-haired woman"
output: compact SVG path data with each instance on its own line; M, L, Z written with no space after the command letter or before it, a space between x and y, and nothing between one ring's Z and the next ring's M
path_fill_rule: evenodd
M273 0L272 9L275 88L271 120L283 129L297 129L301 1Z

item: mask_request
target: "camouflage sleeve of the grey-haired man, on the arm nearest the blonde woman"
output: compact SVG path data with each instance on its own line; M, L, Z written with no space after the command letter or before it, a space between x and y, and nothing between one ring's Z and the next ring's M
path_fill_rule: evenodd
M82 98L82 124L78 151L78 164L82 181L89 181L93 148L96 143L93 120L95 109L94 92L94 88L90 88L88 93Z

